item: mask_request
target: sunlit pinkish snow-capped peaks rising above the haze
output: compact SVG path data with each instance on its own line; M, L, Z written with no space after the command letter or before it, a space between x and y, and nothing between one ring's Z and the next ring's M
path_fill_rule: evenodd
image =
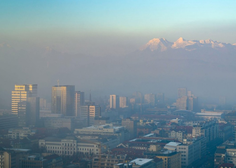
M144 45L140 50L151 50L151 51L166 51L171 49L184 49L187 51L197 50L201 48L212 48L212 49L236 49L236 43L223 43L219 41L214 41L211 39L207 40L185 40L180 37L175 42L170 42L164 38L154 38L150 40L146 45Z

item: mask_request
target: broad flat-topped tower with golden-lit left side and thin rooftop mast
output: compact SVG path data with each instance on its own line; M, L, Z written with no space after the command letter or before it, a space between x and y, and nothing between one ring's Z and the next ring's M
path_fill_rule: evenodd
M58 85L52 87L52 113L66 116L75 115L75 86Z

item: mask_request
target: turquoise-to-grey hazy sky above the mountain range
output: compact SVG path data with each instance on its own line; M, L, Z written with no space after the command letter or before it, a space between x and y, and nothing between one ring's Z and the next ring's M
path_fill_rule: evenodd
M0 43L93 55L132 52L154 37L235 43L235 7L235 0L3 0Z

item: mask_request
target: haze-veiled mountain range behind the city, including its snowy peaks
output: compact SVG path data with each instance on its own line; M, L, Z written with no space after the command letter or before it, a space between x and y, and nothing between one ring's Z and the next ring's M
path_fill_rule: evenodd
M154 38L125 56L96 57L1 43L0 79L0 100L8 97L9 102L14 84L20 83L39 84L40 96L50 99L57 80L91 89L93 95L142 91L175 96L178 87L188 87L197 96L234 97L236 44Z

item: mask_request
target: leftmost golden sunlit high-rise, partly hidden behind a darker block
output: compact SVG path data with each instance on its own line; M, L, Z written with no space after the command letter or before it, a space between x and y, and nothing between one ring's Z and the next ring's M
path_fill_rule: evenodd
M15 85L11 100L12 114L18 114L18 103L27 101L28 97L37 97L37 87L37 84Z

